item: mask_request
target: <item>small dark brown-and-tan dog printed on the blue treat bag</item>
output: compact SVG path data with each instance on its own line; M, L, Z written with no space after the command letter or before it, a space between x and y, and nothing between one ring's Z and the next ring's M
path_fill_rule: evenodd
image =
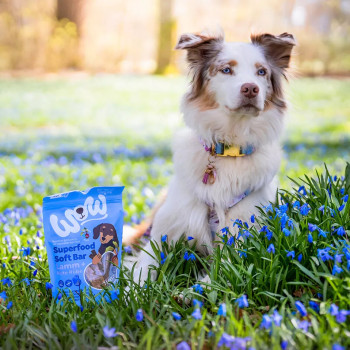
M93 229L93 238L100 239L101 245L98 249L98 253L95 250L91 251L90 258L94 265L98 264L101 261L102 255L106 252L107 248L110 248L114 256L112 262L115 265L118 265L118 247L119 240L117 236L117 231L112 224L100 224Z

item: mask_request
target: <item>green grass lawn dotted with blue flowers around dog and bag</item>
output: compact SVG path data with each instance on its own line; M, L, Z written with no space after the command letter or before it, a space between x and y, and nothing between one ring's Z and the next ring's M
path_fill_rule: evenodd
M287 349L350 347L350 316L329 311L332 304L350 309L350 204L344 202L350 188L350 169L345 173L350 143L346 81L301 79L291 84L294 107L280 172L283 205L262 209L255 218L257 228L236 223L245 238L232 244L228 228L217 237L223 244L209 257L198 255L186 237L170 246L163 242L155 254L159 258L162 251L166 260L156 283L148 282L147 288L126 288L130 276L123 270L120 294L111 302L97 304L83 297L80 309L65 297L63 305L52 299L46 289L50 277L42 197L124 184L125 221L142 220L172 173L169 139L181 126L177 106L185 87L183 78L161 77L0 81L0 127L6 135L0 140L2 348L173 349L182 341L192 349L224 342L233 349L280 349L285 342ZM310 208L307 215L301 213L305 203ZM324 212L319 210L322 205ZM317 229L310 231L314 227L309 224ZM270 244L274 253L271 247L267 251ZM331 258L323 261L320 250L327 248ZM293 259L287 256L292 251ZM185 260L191 253L195 261ZM337 273L334 266L342 271ZM203 271L211 284L193 288ZM249 305L240 308L236 300L242 295ZM193 305L195 299L203 302L200 311ZM300 307L298 311L297 301L306 314ZM225 316L217 314L223 303ZM139 309L142 321L136 319ZM282 317L279 326L275 311ZM174 320L173 312L181 319ZM105 326L118 335L106 337Z

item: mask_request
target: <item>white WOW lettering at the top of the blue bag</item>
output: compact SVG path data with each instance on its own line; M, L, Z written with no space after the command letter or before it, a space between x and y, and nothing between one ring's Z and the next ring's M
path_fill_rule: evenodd
M64 219L59 219L55 214L50 215L50 224L60 237L67 237L71 233L79 232L81 225L88 221L102 220L107 216L106 197L99 194L96 200L87 197L83 205L67 209Z

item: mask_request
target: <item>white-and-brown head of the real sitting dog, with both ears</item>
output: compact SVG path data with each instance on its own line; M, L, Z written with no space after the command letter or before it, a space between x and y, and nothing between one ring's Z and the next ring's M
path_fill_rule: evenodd
M231 118L283 110L281 80L294 45L287 33L251 35L251 43L228 43L223 35L182 35L176 49L187 50L192 74L186 102L199 111L218 109Z

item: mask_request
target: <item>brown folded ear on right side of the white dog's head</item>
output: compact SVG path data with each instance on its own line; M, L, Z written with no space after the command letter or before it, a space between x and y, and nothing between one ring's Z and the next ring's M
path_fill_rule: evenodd
M285 70L289 67L290 56L296 45L292 34L283 33L275 36L272 34L252 34L250 39L253 44L261 46L267 59L275 66Z

